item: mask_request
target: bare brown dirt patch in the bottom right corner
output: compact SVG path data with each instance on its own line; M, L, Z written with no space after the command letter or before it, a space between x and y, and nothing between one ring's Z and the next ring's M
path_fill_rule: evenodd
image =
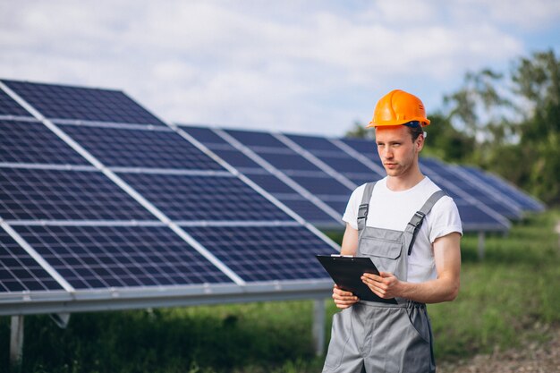
M522 348L477 355L471 360L442 362L437 373L558 373L560 327L548 330L547 342L524 343Z

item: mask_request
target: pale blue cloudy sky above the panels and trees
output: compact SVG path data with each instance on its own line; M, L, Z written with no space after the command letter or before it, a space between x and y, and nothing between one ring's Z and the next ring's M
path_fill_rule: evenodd
M166 122L342 136L404 89L560 54L557 0L0 0L0 78L119 89Z

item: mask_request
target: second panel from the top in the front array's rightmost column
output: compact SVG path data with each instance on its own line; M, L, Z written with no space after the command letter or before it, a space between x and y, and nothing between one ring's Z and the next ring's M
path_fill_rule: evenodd
M225 171L172 130L60 127L106 166Z

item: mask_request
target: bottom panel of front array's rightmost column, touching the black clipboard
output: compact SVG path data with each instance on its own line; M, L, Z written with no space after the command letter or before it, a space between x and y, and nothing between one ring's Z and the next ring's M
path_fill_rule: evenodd
M335 254L308 229L187 227L185 230L247 282L326 279L316 254Z

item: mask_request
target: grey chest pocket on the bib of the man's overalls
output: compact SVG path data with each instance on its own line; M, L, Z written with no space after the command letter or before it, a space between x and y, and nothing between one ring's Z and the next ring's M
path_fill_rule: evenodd
M403 234L384 232L383 234L364 234L360 239L360 255L370 257L380 271L395 272L403 252Z

